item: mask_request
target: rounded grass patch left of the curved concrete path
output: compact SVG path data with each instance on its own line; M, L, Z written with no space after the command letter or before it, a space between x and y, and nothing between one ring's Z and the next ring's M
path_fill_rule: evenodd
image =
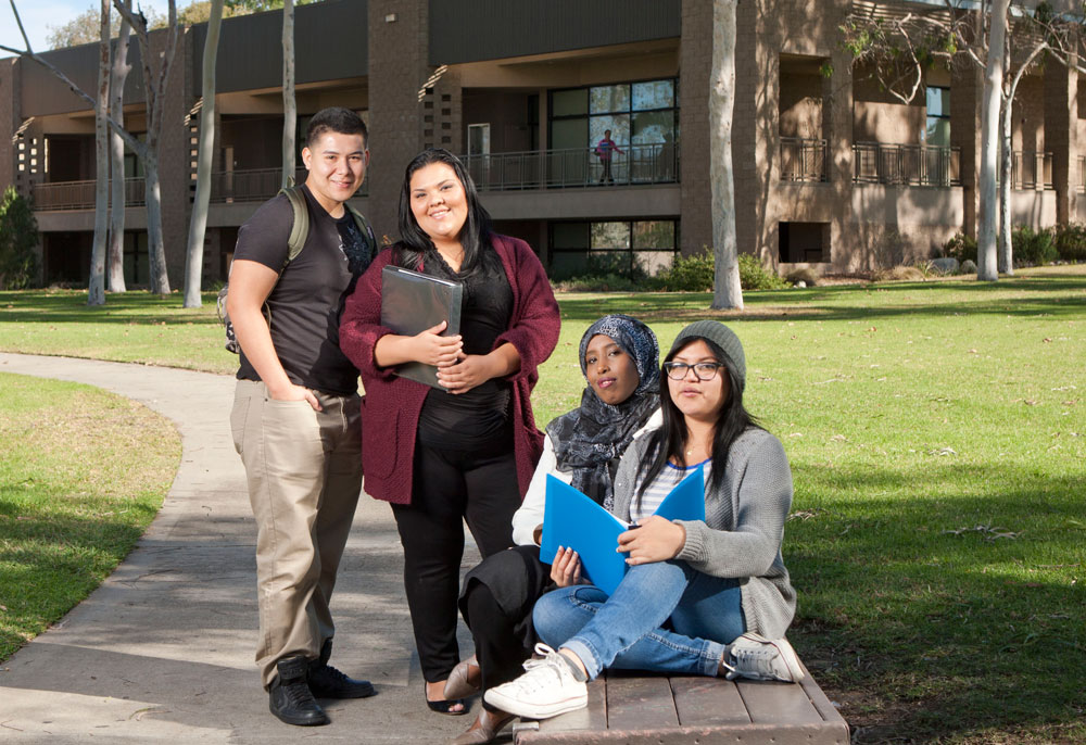
M131 551L177 470L164 417L89 386L0 374L0 660Z

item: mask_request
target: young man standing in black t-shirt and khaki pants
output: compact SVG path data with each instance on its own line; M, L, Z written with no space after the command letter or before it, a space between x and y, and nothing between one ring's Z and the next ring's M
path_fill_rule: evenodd
M256 664L272 714L289 724L328 723L315 696L374 693L328 665L328 601L362 488L358 372L340 352L339 318L375 250L344 204L366 177L366 138L354 112L318 112L302 150L301 252L289 258L295 207L280 193L241 226L230 270L241 345L230 426L257 527Z

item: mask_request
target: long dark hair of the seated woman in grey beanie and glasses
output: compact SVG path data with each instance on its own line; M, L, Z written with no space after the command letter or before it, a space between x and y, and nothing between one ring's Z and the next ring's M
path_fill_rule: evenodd
M716 342L705 337L690 337L685 341L685 344L668 354L664 358L664 362L671 362L679 352L695 341L704 341L706 346L709 348L709 352L712 353L714 359L725 365L722 370L727 370L728 372L728 401L720 407L720 412L717 414L717 421L712 428L712 469L709 473L709 483L707 484L709 489L717 490L724 482L724 471L728 468L728 454L732 449L732 443L748 428L757 427L760 429L761 425L743 407L743 384L735 371L727 367L728 357L724 355L723 350ZM653 432L652 440L648 442L647 452L649 457L645 459L641 467L641 488L637 490L639 504L641 503L641 496L645 493L645 489L660 475L669 458L674 458L680 466L686 465L686 421L683 418L683 413L679 411L674 401L671 400L671 391L668 389L668 376L666 372L660 374L660 412L664 415L664 426Z

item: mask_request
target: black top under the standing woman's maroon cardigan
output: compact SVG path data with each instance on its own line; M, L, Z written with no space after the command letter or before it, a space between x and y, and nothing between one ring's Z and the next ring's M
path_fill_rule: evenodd
M490 247L481 258L470 274L453 272L437 251L424 258L426 274L464 285L460 336L465 354L490 353L513 317L513 288L501 258ZM508 381L494 378L455 395L431 389L419 414L418 441L428 447L465 451L504 439L512 447L509 391Z

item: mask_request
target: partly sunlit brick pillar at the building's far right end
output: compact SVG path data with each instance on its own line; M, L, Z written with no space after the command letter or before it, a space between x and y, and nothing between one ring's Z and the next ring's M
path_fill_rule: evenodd
M1077 215L1078 74L1049 59L1045 65L1045 143L1052 152L1056 219L1066 225Z

